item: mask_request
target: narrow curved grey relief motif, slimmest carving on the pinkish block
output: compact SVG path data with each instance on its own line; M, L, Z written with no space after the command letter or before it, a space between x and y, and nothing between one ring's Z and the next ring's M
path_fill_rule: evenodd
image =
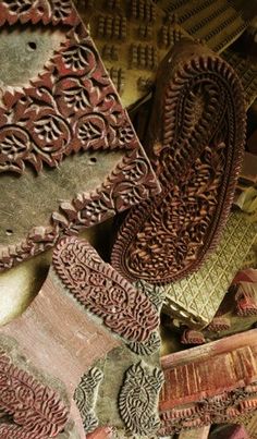
M81 412L84 430L90 432L98 426L98 419L95 414L95 405L97 402L97 394L99 385L103 378L103 374L97 367L93 367L81 379L77 386L74 400Z

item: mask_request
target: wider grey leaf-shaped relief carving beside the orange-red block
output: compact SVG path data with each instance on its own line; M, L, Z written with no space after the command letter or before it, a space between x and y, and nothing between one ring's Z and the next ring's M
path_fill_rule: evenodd
M127 430L136 435L150 435L159 427L158 395L163 374L143 362L126 370L119 395L119 411Z

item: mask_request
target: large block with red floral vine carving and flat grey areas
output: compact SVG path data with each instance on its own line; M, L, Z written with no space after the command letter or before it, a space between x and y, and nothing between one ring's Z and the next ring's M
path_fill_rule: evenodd
M0 2L0 269L159 192L70 0Z

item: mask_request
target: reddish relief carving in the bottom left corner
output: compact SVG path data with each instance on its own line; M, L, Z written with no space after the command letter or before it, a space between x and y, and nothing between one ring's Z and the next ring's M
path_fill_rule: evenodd
M4 439L48 439L61 432L69 407L53 389L17 367L0 347L0 410L12 424L0 424Z

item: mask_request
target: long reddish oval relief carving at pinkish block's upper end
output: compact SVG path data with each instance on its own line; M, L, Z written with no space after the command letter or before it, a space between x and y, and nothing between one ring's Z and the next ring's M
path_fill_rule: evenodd
M86 240L62 239L53 251L53 267L74 297L126 340L146 342L158 328L149 298L105 264Z

